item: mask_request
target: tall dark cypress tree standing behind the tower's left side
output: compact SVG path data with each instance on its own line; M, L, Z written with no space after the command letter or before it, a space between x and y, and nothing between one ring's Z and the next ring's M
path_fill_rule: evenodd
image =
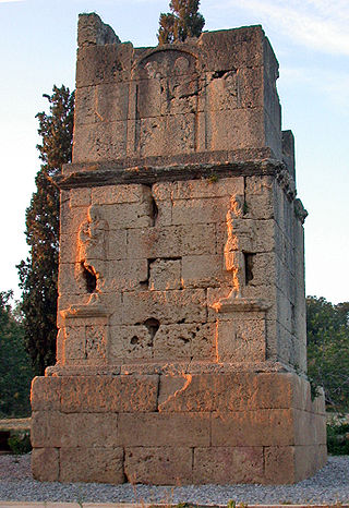
M74 94L53 86L49 113L39 112L37 145L43 165L36 176L36 192L26 210L26 242L29 255L17 266L22 288L22 312L26 349L35 372L43 375L56 361L57 278L59 251L59 190L52 178L71 161Z

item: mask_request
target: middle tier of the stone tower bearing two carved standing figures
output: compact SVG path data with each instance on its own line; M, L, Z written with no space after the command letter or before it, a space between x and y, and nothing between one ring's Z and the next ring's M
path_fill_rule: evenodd
M296 255L281 262L294 240L274 205L290 214L284 195L273 177L63 191L59 362L270 359L302 366ZM96 287L88 288L91 277ZM264 299L267 309L217 315L232 293ZM89 317L65 312L88 302ZM96 305L104 307L97 322Z

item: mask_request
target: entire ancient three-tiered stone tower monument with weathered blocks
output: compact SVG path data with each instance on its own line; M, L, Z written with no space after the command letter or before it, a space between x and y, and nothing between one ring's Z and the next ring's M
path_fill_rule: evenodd
M277 484L325 463L277 76L261 26L135 49L80 16L35 477Z

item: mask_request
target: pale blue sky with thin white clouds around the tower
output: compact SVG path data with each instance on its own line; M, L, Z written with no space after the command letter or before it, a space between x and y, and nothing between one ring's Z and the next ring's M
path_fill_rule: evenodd
M0 291L16 298L25 209L40 161L36 113L53 84L74 89L76 24L96 12L122 41L156 46L168 0L0 0ZM296 136L306 294L349 300L349 2L202 0L204 29L262 24L280 64L282 129Z

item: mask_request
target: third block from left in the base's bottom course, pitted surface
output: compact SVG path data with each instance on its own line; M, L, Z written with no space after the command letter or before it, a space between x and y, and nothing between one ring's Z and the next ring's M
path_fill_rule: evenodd
M124 471L130 483L183 485L193 482L190 447L130 447Z

